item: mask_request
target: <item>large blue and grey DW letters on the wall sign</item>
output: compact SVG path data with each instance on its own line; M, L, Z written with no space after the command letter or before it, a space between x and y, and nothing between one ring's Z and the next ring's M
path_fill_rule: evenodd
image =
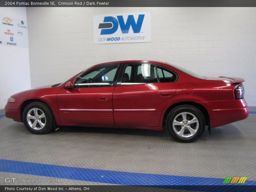
M99 24L99 29L101 29L100 35L110 35L117 31L118 26L122 33L129 33L130 27L132 27L133 33L140 33L140 29L144 20L145 14L140 14L137 22L135 22L133 15L128 15L126 23L124 22L123 16L115 17L104 17L103 23Z

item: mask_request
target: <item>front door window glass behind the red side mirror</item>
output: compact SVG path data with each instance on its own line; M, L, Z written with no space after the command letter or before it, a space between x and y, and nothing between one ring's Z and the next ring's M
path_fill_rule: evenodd
M76 88L112 86L119 63L92 68L76 78Z

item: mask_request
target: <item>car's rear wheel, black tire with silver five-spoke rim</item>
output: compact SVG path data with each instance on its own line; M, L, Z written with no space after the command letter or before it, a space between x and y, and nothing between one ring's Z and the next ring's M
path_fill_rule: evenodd
M184 116L188 118L188 119L186 118L188 120L188 123L187 122L183 123L184 119L182 114L183 115L185 114ZM175 118L176 118L177 124L180 124L180 123L182 124L173 125L175 123L174 122ZM195 121L197 120L196 123L189 124L189 121L192 120L193 118L195 118ZM198 127L197 127L197 124L198 124ZM176 108L173 108L168 114L166 118L166 128L170 133L170 135L172 136L172 138L175 139L176 141L183 142L183 143L193 142L197 140L204 132L204 128L205 128L204 115L198 108L194 106L190 106L190 105L178 106ZM181 128L182 130L184 130L183 133L181 131ZM193 130L191 130L190 128L192 128L193 130L196 130L196 132L195 133L192 132ZM178 133L182 134L182 136L179 135Z

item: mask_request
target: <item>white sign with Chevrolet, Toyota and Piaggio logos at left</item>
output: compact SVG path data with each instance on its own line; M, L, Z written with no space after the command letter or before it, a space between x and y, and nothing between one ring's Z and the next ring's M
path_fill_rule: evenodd
M28 47L27 21L0 15L0 45Z

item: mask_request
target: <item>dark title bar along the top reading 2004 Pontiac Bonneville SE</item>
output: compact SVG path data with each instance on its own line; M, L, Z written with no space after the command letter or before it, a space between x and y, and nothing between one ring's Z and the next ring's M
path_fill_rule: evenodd
M0 7L255 7L255 0L1 0Z

